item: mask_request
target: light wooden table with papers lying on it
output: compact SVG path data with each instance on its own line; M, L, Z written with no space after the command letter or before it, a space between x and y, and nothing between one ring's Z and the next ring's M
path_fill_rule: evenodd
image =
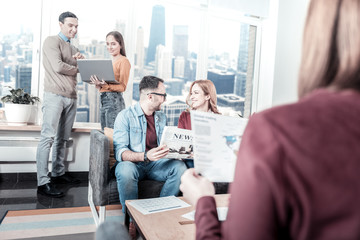
M186 202L183 197L179 198ZM215 195L216 206L226 207L228 205L228 199L229 194ZM131 217L137 231L143 239L195 239L195 224L181 225L179 223L182 221L189 221L189 219L183 218L181 215L193 211L193 206L143 215L129 204L129 202L132 201L137 200L127 200L125 202L125 225L127 227L129 226L129 218Z

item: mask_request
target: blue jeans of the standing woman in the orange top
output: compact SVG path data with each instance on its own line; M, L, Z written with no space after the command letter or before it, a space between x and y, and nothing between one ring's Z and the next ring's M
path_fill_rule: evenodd
M114 128L115 118L125 108L121 92L103 92L100 95L100 123L104 127Z

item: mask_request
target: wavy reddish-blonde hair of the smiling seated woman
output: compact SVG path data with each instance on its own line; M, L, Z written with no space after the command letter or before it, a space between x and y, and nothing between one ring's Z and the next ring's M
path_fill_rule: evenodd
M189 108L187 109L187 111L192 110L191 108L191 104L190 104L190 96L191 96L191 91L192 88L195 84L198 84L199 87L204 91L205 95L209 95L210 99L209 99L209 105L210 105L210 110L213 113L216 114L221 114L219 112L219 110L217 109L217 97L216 97L216 88L215 85L212 81L210 80L195 80L191 85L190 85L190 90L189 90L189 94L186 97L186 104L189 105Z

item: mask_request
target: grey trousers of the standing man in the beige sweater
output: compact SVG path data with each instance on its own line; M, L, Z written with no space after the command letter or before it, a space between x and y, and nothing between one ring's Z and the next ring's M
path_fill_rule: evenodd
M47 174L52 146L51 176L57 177L65 173L66 141L70 138L76 116L76 99L44 92L42 112L43 123L36 153L38 186L50 182Z

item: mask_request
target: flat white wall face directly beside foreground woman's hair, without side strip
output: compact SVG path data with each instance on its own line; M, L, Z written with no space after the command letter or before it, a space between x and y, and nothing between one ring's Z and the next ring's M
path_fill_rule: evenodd
M303 29L309 0L279 0L272 105L296 101Z

